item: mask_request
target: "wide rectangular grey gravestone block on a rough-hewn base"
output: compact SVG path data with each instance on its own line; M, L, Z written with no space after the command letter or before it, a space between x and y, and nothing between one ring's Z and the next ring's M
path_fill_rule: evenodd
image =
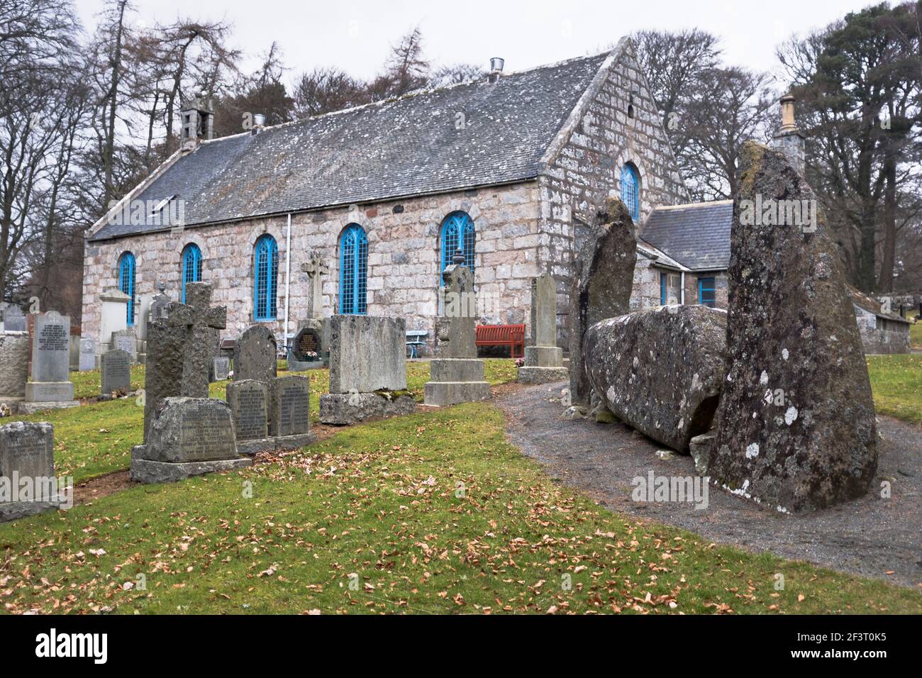
M329 323L330 392L320 397L320 421L345 425L415 410L407 393L407 321L334 315Z

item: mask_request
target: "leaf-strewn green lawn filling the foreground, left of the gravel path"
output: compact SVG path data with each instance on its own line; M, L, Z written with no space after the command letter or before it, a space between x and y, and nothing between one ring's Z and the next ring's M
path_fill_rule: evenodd
M0 525L0 564L7 613L922 611L920 591L611 514L489 403Z

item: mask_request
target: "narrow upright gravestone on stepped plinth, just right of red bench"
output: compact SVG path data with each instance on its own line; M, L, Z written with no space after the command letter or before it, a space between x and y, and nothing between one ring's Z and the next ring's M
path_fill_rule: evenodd
M563 349L557 346L557 282L550 273L531 280L531 339L518 380L547 384L566 379L570 373L563 366Z

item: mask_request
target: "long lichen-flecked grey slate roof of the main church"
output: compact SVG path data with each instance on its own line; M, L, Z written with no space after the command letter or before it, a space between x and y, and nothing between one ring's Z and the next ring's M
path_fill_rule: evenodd
M136 199L184 200L186 226L506 184L538 176L609 54L382 101L215 139L176 160ZM458 113L464 114L458 129ZM129 220L130 221L130 220ZM163 231L106 223L91 240Z

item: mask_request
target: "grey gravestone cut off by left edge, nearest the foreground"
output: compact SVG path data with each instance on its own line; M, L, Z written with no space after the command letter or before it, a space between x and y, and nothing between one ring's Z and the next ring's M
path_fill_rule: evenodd
M54 429L48 422L0 426L0 522L59 508Z

